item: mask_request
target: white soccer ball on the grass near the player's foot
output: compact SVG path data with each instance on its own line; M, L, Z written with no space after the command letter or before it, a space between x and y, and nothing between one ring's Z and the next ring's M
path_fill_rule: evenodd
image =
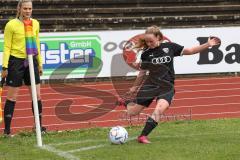
M128 139L128 132L125 128L121 126L116 126L111 128L109 131L109 140L113 144L123 144Z

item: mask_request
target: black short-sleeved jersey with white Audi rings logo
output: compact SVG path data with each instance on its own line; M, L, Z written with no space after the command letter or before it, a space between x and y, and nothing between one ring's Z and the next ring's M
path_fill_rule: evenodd
M174 83L175 71L173 59L180 56L183 46L176 43L161 43L159 47L145 49L141 55L141 69L149 71L151 81Z

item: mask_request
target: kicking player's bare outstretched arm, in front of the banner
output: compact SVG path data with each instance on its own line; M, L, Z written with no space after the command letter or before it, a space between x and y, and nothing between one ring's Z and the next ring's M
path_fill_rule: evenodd
M208 41L202 45L195 46L192 48L184 48L183 49L183 55L192 55L199 52L204 51L205 49L208 49L209 47L219 45L221 43L221 40L217 37L209 37Z

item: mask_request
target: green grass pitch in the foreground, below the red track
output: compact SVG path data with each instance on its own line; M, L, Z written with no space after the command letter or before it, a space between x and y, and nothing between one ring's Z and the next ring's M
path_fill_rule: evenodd
M33 133L13 138L0 137L1 160L239 160L240 119L177 121L160 124L149 136L151 144L138 144L135 137L142 127L126 128L130 141L112 145L109 128L51 132L43 143L64 157L36 147ZM68 155L73 157L69 157Z

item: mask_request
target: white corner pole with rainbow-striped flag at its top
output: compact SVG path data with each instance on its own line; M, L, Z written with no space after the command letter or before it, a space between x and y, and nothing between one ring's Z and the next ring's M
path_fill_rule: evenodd
M26 39L26 52L28 55L28 63L29 63L29 73L31 79L31 91L32 91L32 101L33 101L33 110L35 117L35 125L36 125L36 135L37 135L37 145L42 147L42 135L40 128L40 120L39 120L39 111L38 111L38 103L37 103L37 91L36 91L36 82L35 82L35 73L34 73L34 65L33 65L33 54L37 53L36 41L33 38L33 29L32 29L32 20L24 21L25 27L25 39Z

